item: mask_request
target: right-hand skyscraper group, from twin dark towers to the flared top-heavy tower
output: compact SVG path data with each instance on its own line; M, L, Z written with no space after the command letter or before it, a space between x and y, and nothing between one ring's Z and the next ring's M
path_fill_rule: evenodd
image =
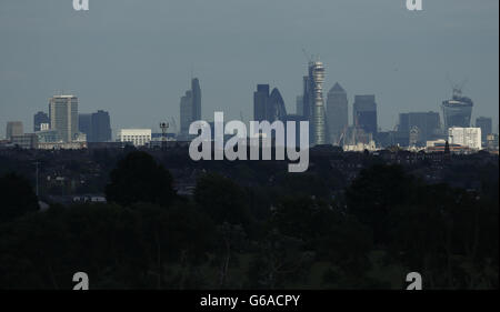
M399 114L399 124L393 131L380 131L374 94L354 95L352 124L349 125L348 95L337 82L330 89L324 105L322 89L324 66L320 61L308 63L303 77L302 95L297 97L297 114L287 114L284 102L278 89L269 94L269 84L258 84L253 93L254 120L308 120L311 144L341 145L344 150L363 150L376 147L426 147L429 141L450 139L451 128L470 128L472 101L453 88L451 100L442 102L443 122L439 112L407 112ZM492 133L491 118L478 118L483 144ZM474 131L462 131L472 133ZM476 132L474 132L476 133ZM498 139L497 139L498 140Z

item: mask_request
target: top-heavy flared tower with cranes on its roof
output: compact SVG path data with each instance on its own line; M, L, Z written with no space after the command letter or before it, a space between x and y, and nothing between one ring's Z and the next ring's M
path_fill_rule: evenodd
M451 100L446 100L441 104L444 130L451 127L469 128L473 105L471 99L462 95L462 90L453 88Z

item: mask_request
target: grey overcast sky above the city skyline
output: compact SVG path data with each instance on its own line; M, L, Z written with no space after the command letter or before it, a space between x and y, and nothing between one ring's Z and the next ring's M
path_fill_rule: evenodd
M63 90L80 112L111 113L119 128L153 128L179 115L191 71L202 117L252 119L257 83L281 91L296 111L307 71L304 48L354 94L374 93L379 124L399 112L439 111L451 95L447 74L468 79L473 118L499 115L499 1L423 0L71 0L0 1L0 137L6 123L47 111ZM352 118L350 117L350 122Z

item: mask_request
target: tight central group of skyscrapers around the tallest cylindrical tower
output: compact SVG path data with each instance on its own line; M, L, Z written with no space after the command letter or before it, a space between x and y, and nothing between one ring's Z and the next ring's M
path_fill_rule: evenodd
M284 102L278 89L269 95L268 84L258 84L253 94L254 120L307 120L311 144L343 144L349 132L348 98L346 91L336 83L328 92L327 107L323 99L324 66L320 61L308 63L308 74L303 77L302 95L297 97L297 114L287 114ZM278 97L279 95L279 97ZM352 133L377 133L377 104L374 95L356 95L353 105ZM357 137L361 137L357 134Z

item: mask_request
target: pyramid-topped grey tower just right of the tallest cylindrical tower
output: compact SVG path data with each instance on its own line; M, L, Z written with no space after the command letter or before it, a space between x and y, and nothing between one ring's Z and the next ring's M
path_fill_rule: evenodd
M339 83L328 92L327 117L330 141L333 145L339 145L340 138L349 125L347 93Z

